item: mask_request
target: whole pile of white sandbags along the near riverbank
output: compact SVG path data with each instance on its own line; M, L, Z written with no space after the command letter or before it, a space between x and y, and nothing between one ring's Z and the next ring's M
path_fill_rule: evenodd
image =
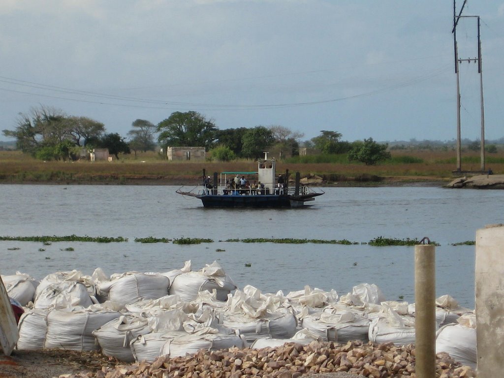
M154 361L198 349L272 347L287 342L360 340L415 342L415 307L386 301L376 285L338 296L305 286L284 295L237 289L217 263L192 271L125 272L92 276L57 272L38 283L26 274L2 276L26 306L18 349L97 350L123 361ZM436 300L436 349L475 364L476 330L469 310L450 296ZM469 319L469 320L468 320Z

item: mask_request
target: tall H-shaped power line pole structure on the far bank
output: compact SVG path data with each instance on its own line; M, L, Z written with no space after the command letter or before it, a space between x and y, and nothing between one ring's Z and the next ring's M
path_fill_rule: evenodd
M485 111L483 105L483 71L481 62L481 38L480 38L480 18L479 16L462 16L462 11L467 3L464 0L462 8L457 15L457 5L456 0L453 0L453 42L455 50L455 73L457 74L457 172L462 172L461 166L461 137L460 137L460 74L459 74L459 64L463 61L467 62L477 62L478 63L478 73L480 82L480 102L481 102L481 143L480 143L480 159L481 159L481 172L485 171ZM478 56L475 58L461 59L459 58L459 52L457 49L457 24L461 18L477 18L478 20Z

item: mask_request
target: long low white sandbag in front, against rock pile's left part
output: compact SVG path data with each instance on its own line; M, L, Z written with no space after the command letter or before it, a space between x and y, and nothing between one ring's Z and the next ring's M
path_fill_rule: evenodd
M244 348L246 343L235 334L225 335L215 329L193 335L185 332L151 333L139 336L131 343L135 359L147 362L163 355L178 357L195 354L200 349L218 350L233 346Z

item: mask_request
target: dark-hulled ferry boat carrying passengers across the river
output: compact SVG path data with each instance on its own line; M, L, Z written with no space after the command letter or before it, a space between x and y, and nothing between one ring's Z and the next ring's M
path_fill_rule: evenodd
M215 172L210 177L204 170L202 184L189 192L181 187L176 193L196 197L208 208L297 208L324 194L301 184L299 172L294 186L289 186L289 171L277 177L275 165L275 158L268 159L265 152L257 172Z

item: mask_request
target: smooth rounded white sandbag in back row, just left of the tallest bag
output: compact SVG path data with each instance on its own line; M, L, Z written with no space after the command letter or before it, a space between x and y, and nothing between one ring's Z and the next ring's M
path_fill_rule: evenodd
M129 304L139 299L156 299L168 294L170 281L157 273L128 272L112 275L108 282L98 284L98 292L108 293L108 299L114 302Z

